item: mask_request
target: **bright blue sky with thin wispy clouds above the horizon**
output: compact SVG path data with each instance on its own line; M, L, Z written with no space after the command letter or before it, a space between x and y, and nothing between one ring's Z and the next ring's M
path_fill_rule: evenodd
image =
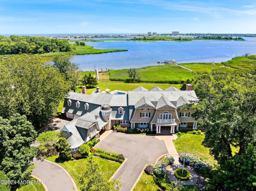
M255 0L0 0L0 34L256 33Z

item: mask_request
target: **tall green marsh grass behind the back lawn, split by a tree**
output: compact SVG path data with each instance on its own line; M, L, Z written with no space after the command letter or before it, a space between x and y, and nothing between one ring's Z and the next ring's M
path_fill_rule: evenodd
M179 67L176 64L165 64L158 66L148 66L138 68L141 75L141 82L154 83L180 83L182 79L192 79L194 74L188 70ZM128 77L128 69L109 70L110 80L126 80Z

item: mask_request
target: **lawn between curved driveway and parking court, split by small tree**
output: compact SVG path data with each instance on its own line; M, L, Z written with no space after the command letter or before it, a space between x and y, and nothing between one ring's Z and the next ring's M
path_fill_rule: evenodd
M76 185L78 185L77 184L78 177L79 177L79 175L81 175L84 172L84 168L86 166L87 159L84 158L84 159L73 160L73 161L59 162L58 158L59 158L59 156L53 155L53 156L46 157L45 159L52 161L52 162L56 162L59 165L63 166L69 172L69 174L72 176L72 178L76 182ZM116 172L116 170L121 165L118 162L110 162L110 161L107 161L105 159L101 159L98 157L94 157L94 158L100 165L102 165L102 169L104 171L112 172L110 175L108 175L107 179L110 179L111 176Z

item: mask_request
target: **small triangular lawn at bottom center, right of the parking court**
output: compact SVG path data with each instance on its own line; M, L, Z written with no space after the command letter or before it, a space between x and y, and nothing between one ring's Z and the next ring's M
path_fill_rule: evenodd
M134 191L160 191L160 187L156 184L152 176L147 175L143 172L142 176L139 179L139 182L136 184Z

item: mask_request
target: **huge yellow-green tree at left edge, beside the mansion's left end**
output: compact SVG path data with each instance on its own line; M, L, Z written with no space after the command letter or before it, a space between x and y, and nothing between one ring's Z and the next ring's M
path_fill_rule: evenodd
M57 110L68 90L58 68L39 56L0 58L0 116L25 114L37 128Z

